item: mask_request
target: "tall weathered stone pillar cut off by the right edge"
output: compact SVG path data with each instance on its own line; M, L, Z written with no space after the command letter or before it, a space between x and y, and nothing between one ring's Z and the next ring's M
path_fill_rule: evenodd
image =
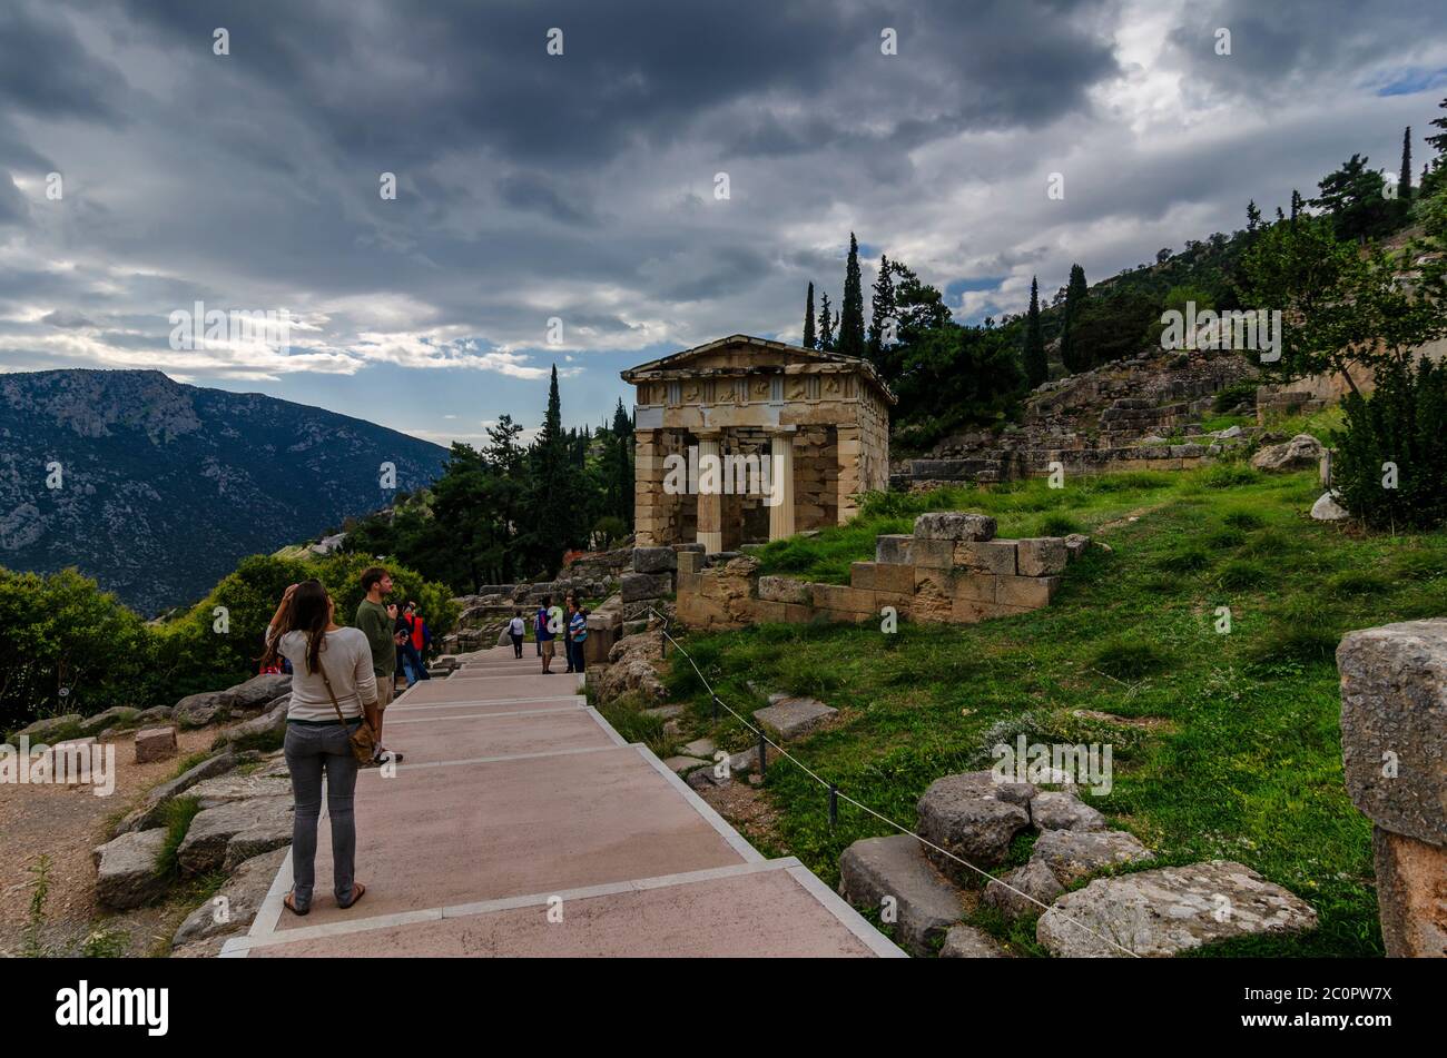
M1372 820L1382 941L1393 958L1447 955L1447 617L1349 632L1341 763Z

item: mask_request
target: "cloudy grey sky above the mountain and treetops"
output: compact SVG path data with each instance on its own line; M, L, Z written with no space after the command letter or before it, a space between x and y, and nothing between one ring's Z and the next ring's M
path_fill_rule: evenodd
M1444 95L1441 0L4 0L0 370L446 444L534 426L556 363L596 423L632 363L799 341L851 230L959 321L1019 312L1035 273L1239 228L1353 152L1395 172L1406 124L1420 168ZM172 348L195 302L297 322Z

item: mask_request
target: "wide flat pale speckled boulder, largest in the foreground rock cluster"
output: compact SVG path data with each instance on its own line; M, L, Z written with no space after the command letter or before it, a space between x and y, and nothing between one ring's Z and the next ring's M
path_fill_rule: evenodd
M1059 898L1035 935L1059 957L1160 957L1315 925L1317 912L1295 895L1240 863L1210 860L1097 879Z

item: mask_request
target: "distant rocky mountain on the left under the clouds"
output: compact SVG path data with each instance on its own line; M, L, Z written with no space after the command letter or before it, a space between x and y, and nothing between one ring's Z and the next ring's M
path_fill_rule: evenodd
M382 463L411 490L446 460L395 429L161 371L0 374L0 565L78 567L149 617L245 555L386 506Z

